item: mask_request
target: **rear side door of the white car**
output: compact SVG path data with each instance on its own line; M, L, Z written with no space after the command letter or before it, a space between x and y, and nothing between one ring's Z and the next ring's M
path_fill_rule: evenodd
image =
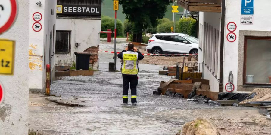
M173 35L164 35L163 37L163 53L171 54L173 52L174 37Z

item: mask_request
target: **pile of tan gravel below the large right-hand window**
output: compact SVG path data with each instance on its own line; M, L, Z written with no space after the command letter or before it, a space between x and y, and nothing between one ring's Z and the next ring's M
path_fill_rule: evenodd
M271 89L270 88L256 88L252 93L256 92L252 99L244 100L240 103L254 102L254 101L271 101Z

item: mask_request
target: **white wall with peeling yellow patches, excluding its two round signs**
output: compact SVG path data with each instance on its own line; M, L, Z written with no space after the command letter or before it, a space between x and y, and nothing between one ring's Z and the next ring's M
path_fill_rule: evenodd
M53 26L56 24L56 13L51 15L51 9L56 7L56 0L46 1L41 0L41 6L38 6L36 2L40 0L30 0L29 9L29 87L30 89L44 90L45 89L45 73L46 64L49 64L49 48L50 48L50 32L53 32ZM42 14L42 20L39 23L42 24L42 29L39 32L35 32L32 29L33 13L40 12ZM49 22L50 21L50 22ZM54 32L53 32L54 33ZM46 38L47 37L47 38ZM46 38L46 41L45 41ZM55 41L52 40L55 44ZM45 51L46 49L46 51ZM52 58L52 69L55 67L54 56ZM55 70L51 70L54 75ZM54 76L53 76L54 77Z

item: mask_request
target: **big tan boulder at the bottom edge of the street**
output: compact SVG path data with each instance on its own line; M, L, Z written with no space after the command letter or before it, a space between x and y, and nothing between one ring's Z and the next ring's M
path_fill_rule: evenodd
M183 125L181 135L220 135L214 125L206 118L199 117Z

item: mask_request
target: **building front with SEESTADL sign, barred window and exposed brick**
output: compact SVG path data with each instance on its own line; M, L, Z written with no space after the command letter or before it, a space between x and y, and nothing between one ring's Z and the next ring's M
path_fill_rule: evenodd
M58 0L56 66L72 66L74 52L89 52L90 67L98 69L101 0Z

